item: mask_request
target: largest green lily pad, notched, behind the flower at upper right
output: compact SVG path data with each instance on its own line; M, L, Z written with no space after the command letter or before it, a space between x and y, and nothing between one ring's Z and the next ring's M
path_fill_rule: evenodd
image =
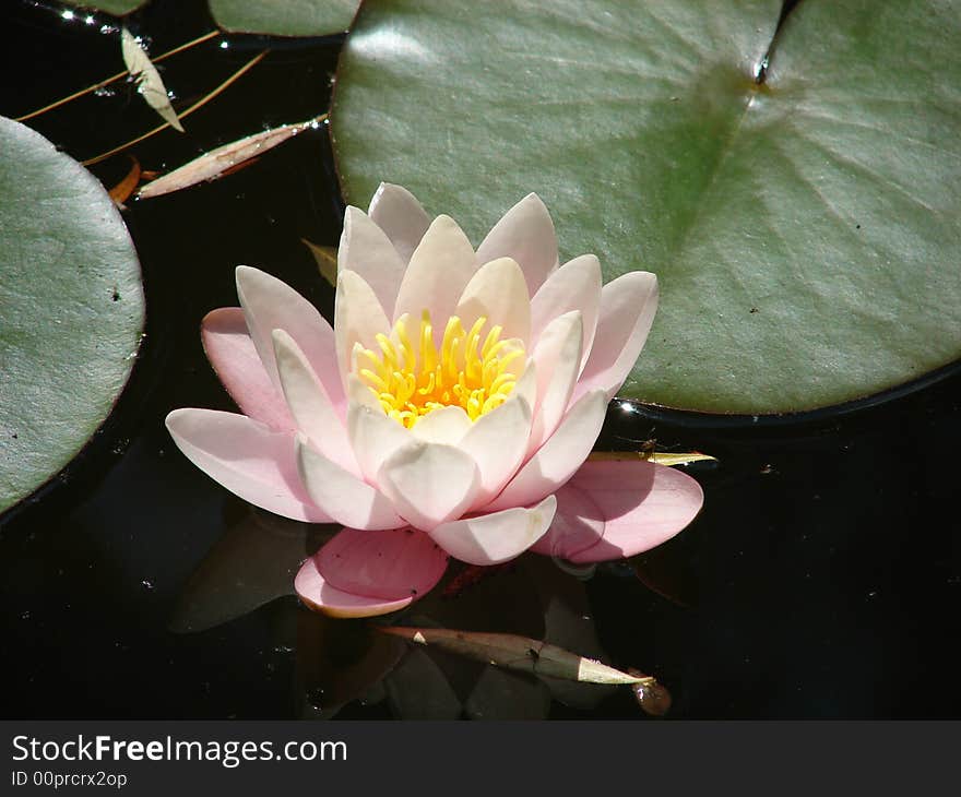
M536 191L563 257L654 271L625 397L875 395L961 357L958 11L802 0L771 47L763 0L365 3L331 120L342 188L364 205L402 183L475 242Z

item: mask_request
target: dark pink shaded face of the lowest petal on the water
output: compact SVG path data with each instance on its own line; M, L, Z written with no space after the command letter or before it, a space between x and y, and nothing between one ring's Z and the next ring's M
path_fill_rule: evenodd
M313 561L337 590L398 600L428 592L443 575L448 557L430 537L413 528L345 528L313 555Z

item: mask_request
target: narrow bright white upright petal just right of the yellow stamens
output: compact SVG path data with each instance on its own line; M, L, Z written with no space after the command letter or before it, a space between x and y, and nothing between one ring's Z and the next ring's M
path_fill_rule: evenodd
M583 323L579 310L554 319L531 355L537 364L537 404L529 451L539 449L567 412L581 370Z

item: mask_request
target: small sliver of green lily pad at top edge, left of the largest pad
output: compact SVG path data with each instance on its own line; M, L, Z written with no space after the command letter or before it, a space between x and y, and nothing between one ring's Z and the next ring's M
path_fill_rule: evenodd
M220 27L233 33L325 36L351 26L360 0L209 0Z

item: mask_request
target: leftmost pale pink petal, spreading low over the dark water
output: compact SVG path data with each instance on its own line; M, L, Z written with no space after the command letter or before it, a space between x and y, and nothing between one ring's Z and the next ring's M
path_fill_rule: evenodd
M297 475L293 435L246 415L194 408L170 413L167 429L187 459L245 501L293 520L330 523Z

